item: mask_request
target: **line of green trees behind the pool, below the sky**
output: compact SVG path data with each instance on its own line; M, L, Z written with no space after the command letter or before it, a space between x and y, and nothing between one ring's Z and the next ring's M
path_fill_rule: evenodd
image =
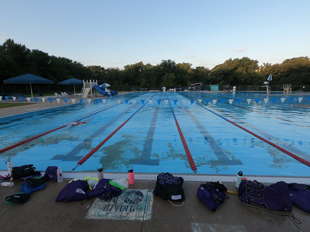
M78 61L49 55L38 49L7 39L0 45L0 81L31 73L57 84L77 79L105 80L113 86L141 86L142 88L174 88L202 82L204 85L262 85L272 74L272 85L310 85L310 59L290 58L281 64L263 63L248 57L229 58L212 69L191 63L176 63L170 59L157 65L142 61L128 64L124 69L104 68L97 65L84 66Z

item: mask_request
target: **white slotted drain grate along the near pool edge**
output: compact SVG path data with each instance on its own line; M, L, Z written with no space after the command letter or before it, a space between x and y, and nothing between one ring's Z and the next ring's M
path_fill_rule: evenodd
M7 171L0 171L0 175L6 176ZM44 172L41 172L44 174ZM97 177L96 172L64 172L65 179L85 178L87 176ZM156 181L158 174L154 173L135 173L136 181ZM186 182L208 182L214 179L222 180L222 182L235 182L235 175L213 175L213 174L173 174L174 176L181 176ZM302 183L310 184L310 177L306 176L258 176L245 175L248 180L257 180L261 183L276 183L284 181L286 183ZM107 179L125 179L128 178L128 173L105 172L104 178Z

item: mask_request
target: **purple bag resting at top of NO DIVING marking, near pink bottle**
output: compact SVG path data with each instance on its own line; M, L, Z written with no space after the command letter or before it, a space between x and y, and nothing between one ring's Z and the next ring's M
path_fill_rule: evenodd
M88 193L88 196L96 196L101 200L108 200L113 196L121 195L122 190L109 184L109 181L110 179L100 179Z

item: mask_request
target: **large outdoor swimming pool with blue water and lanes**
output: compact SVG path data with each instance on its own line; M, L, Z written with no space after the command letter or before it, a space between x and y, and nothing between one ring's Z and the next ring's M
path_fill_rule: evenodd
M31 163L45 170L55 165L70 171L126 122L76 170L193 173L176 118L199 174L242 170L248 175L309 176L309 166L235 125L310 161L309 109L293 109L292 101L298 97L264 92L133 92L105 98L105 104L86 101L3 117L0 149L73 121L91 120L0 153L0 170L6 170L5 161L11 160L14 166Z

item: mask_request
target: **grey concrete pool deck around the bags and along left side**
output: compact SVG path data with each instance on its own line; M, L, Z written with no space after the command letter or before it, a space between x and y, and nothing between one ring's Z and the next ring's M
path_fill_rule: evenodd
M75 96L71 98L78 99ZM55 106L59 106L57 101L48 104L40 102L35 105L3 108L0 110L0 117ZM226 199L216 212L210 211L196 196L200 183L204 183L197 181L184 182L185 201L180 207L173 206L168 200L163 200L159 196L148 194L147 199L153 198L153 201L149 205L151 207L145 207L142 212L146 214L148 211L148 214L151 215L147 220L136 220L130 216L123 219L118 216L107 219L102 213L105 209L98 207L95 208L97 213L91 219L88 216L91 211L94 211L94 207L98 203L97 198L92 197L83 205L81 205L81 202L62 203L55 201L56 196L68 181L69 179L64 179L61 183L47 181L45 189L33 192L29 200L22 205L6 204L4 198L7 195L19 192L23 180L13 180L13 187L0 186L0 196L2 197L0 201L1 231L110 231L111 229L128 232L309 231L309 213L293 207L292 213L294 217L302 223L298 225L291 217L275 214L286 215L289 212L270 211L272 213L268 213L260 210L262 208L245 207L246 204L241 204L240 198L235 194L227 193L226 195L230 199ZM226 185L228 190L237 192L234 183L223 181L223 184ZM135 184L130 185L128 189L151 191L154 188L154 180L136 180ZM180 204L179 202L173 203Z

